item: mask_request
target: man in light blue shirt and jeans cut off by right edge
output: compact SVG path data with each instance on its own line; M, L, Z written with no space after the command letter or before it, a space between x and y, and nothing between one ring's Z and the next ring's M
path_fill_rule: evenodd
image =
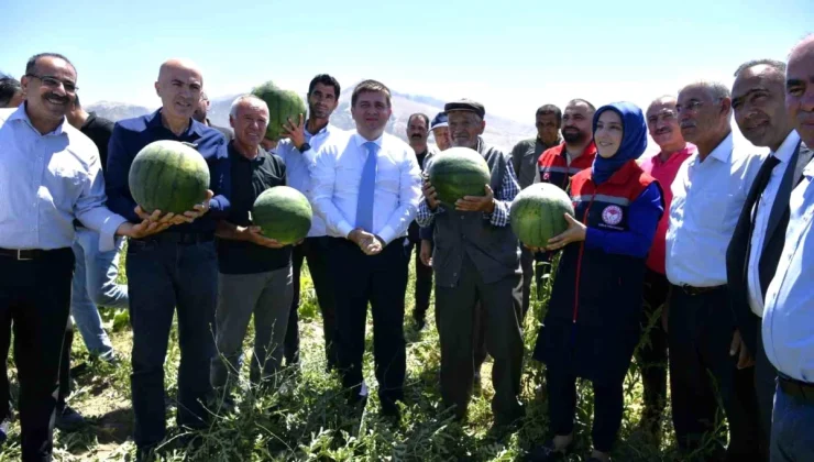
M800 138L814 146L814 35L796 45L785 72L785 109ZM763 345L778 369L772 462L814 460L814 161L789 202L785 243L766 293Z

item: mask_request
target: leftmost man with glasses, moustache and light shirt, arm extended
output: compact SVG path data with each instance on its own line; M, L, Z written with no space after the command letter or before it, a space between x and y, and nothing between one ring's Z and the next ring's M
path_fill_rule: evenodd
M114 248L114 235L143 238L168 222L153 215L133 224L105 206L98 150L65 118L77 89L65 56L33 56L21 84L25 102L0 110L0 344L9 343L13 322L22 460L44 461L70 310L74 220L99 232L103 251Z

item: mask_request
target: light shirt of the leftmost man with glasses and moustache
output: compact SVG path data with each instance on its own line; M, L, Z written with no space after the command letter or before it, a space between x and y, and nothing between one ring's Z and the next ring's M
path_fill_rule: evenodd
M0 248L70 248L76 218L113 250L127 220L105 206L99 150L65 119L41 134L25 107L0 109Z

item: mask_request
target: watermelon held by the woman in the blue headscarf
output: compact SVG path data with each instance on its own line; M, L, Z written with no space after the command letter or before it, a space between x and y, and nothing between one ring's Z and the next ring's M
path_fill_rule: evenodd
M568 194L549 183L538 183L515 197L509 220L520 242L532 248L544 248L549 239L568 229L563 213L574 215Z

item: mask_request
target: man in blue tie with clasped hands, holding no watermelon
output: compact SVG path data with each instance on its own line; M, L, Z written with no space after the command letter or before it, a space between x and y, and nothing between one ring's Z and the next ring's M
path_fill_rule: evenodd
M314 205L326 221L333 276L337 348L349 402L364 402L362 378L367 302L382 411L398 417L404 399L407 228L421 197L421 170L413 148L384 133L393 110L389 89L364 80L353 90L356 131L331 140L311 166Z

